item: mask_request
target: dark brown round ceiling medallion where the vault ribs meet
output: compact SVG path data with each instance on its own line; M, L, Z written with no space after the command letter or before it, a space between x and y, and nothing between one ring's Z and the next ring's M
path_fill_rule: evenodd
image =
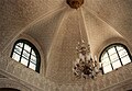
M84 3L84 0L66 0L66 2L70 8L78 9Z

